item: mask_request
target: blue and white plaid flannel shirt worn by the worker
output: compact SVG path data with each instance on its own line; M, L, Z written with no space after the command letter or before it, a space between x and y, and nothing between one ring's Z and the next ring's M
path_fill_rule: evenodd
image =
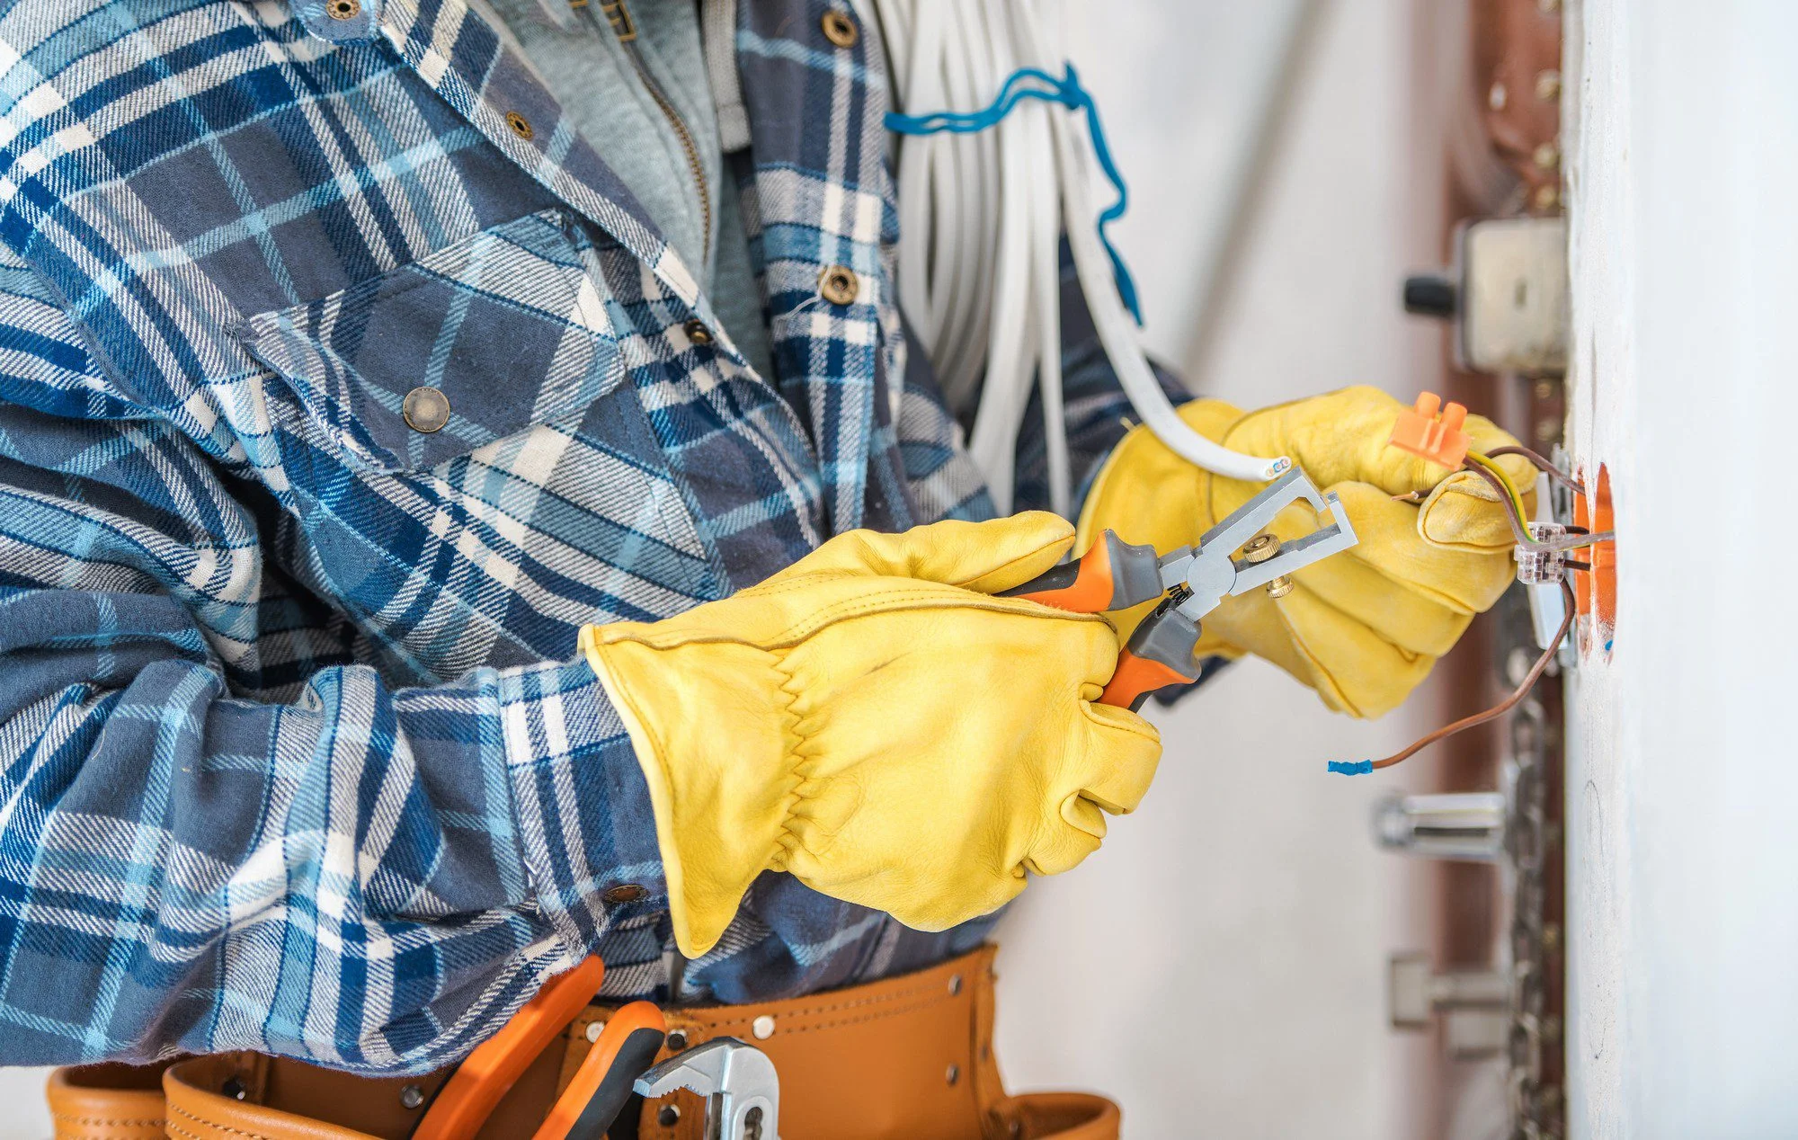
M881 49L825 9L741 5L770 378L466 0L0 11L0 1061L417 1072L590 953L743 1002L984 937L764 876L671 971L572 662L834 532L991 514L894 306ZM1091 468L1124 405L1072 376Z

